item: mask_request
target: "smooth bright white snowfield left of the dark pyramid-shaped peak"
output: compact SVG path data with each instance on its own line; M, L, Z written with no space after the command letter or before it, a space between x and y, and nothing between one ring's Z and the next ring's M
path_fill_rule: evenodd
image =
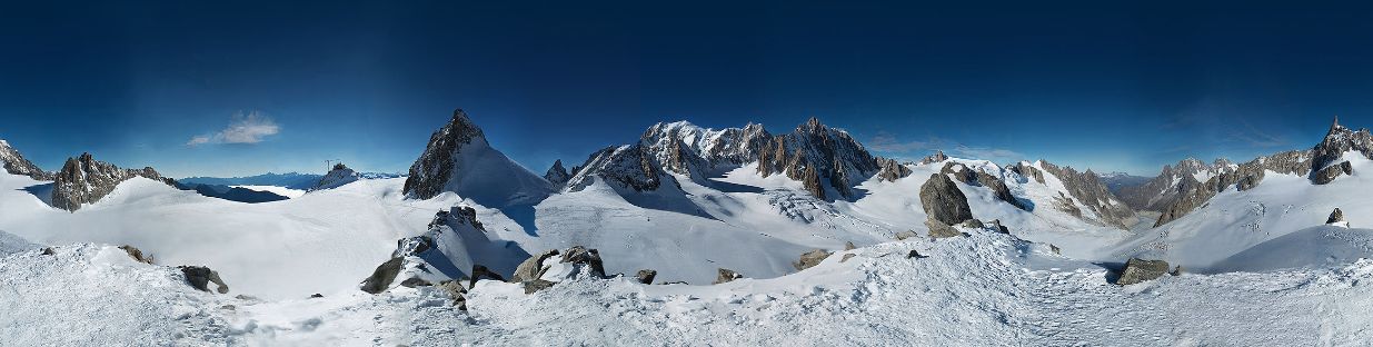
M397 239L423 233L434 213L457 200L405 200L402 181L361 180L244 204L140 177L67 213L23 191L41 181L0 174L0 230L44 244L132 244L163 263L207 265L235 294L303 298L356 289Z

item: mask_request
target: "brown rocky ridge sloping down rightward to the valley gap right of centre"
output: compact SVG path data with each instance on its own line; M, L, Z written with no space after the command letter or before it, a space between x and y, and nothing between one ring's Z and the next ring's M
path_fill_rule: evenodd
M1056 166L1049 162L1039 162L1039 166L1045 171L1053 174L1063 182L1064 189L1068 195L1075 198L1079 203L1092 210L1097 218L1112 226L1129 228L1126 221L1134 218L1134 210L1129 206L1120 203L1115 195L1107 189L1107 185L1101 182L1101 178L1096 173L1087 170L1085 173L1078 173L1071 166ZM1074 207L1075 208L1075 207ZM1072 213L1071 210L1065 210ZM1078 211L1081 215L1081 211Z

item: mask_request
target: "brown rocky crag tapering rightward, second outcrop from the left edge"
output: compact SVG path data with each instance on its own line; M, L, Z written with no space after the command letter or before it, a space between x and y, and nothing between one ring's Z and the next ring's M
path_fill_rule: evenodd
M81 208L81 204L99 202L114 191L119 182L133 177L147 177L176 187L172 178L163 178L152 167L119 169L111 163L95 160L91 154L67 158L52 182L52 206L67 211Z

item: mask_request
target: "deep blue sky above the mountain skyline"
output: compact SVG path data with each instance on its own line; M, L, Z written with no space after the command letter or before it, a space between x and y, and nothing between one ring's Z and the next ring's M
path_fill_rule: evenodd
M1155 174L1373 125L1369 5L224 3L0 4L0 139L48 170L404 171L461 107L542 173L658 121L814 115L888 156ZM216 137L235 114L276 132Z

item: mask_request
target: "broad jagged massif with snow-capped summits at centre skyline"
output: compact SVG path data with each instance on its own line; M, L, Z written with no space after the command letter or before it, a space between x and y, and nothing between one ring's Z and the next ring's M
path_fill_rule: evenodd
M855 198L851 188L875 174L898 180L910 169L869 154L847 132L810 118L784 134L772 134L762 125L724 130L703 129L688 122L656 123L638 143L608 147L592 154L573 170L568 191L581 191L593 177L623 188L652 191L671 174L706 182L706 177L743 165L758 163L758 174L783 174L803 184L820 199ZM836 195L836 196L831 196Z

